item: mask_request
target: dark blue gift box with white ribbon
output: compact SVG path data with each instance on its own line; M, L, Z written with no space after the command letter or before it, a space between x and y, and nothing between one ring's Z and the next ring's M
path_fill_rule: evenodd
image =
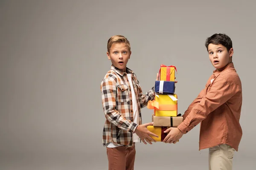
M155 92L157 94L174 94L175 93L175 82L171 81L156 81Z

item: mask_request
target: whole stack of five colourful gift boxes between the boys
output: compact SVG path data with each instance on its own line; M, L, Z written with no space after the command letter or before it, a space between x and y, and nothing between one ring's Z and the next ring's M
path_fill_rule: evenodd
M151 126L148 130L159 137L151 136L157 142L162 142L169 127L177 127L183 122L183 117L177 114L178 102L175 94L175 66L161 65L159 71L160 81L155 82L155 98L148 102L147 108L154 109Z

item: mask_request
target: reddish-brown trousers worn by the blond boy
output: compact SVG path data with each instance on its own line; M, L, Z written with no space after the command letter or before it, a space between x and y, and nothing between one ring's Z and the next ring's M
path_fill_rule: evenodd
M108 170L134 170L135 153L135 145L107 147Z

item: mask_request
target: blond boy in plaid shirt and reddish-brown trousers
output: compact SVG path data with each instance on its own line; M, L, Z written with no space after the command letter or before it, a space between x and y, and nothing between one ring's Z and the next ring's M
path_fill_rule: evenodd
M156 142L146 123L142 125L140 109L155 96L154 87L145 95L134 72L126 65L131 57L130 42L122 35L108 40L108 59L111 70L101 82L102 105L106 121L103 128L103 146L107 147L109 170L133 170L135 142ZM158 75L157 75L158 80Z

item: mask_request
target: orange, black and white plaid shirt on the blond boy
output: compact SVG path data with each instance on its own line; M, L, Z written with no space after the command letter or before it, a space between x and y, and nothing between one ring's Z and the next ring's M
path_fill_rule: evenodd
M149 100L154 99L154 87L143 95L140 83L133 71L126 68L126 73L124 73L112 65L111 70L101 82L102 105L106 117L103 128L103 146L107 146L110 142L128 147L133 146L132 137L138 125L133 122L131 87L127 74L131 74L137 98L139 125L142 124L140 108L145 107Z

